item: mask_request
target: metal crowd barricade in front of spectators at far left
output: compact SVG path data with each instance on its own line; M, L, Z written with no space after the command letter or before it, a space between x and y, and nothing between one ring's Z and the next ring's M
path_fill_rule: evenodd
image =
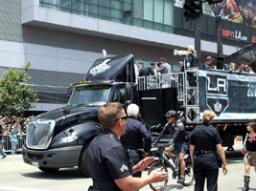
M26 135L25 134L17 135L16 152L22 151L22 145L24 144L25 139L26 139ZM12 138L11 138L10 135L3 136L1 142L3 144L3 147L5 149L4 151L6 153L12 153L12 154L14 153L13 147L12 147Z

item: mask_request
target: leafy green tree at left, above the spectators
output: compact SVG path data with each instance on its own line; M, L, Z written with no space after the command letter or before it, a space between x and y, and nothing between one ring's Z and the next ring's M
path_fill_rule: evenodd
M22 67L22 70L10 68L0 78L0 114L17 116L22 109L35 108L38 101L36 91L28 84L32 78L27 74L31 62Z

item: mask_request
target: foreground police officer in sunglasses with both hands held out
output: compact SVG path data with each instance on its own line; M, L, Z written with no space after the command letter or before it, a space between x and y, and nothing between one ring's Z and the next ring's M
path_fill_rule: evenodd
M132 166L128 152L119 139L126 133L127 126L127 116L121 103L105 104L98 111L98 117L103 132L94 138L88 147L88 162L94 190L139 190L151 182L168 178L167 173L159 171L143 178L131 176L144 170L154 158L143 159Z

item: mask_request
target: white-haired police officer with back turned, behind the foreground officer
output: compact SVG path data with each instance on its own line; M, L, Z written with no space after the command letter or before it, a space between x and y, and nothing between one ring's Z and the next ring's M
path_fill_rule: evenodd
M151 134L146 126L137 119L139 117L139 106L133 103L129 104L127 114L126 133L120 138L120 141L128 150L129 159L137 164L151 150ZM135 173L133 177L141 177L141 171Z

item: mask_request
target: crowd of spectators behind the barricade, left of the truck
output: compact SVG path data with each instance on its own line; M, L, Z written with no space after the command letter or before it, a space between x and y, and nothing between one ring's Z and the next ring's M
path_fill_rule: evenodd
M8 145L12 145L12 154L17 151L19 139L23 139L27 132L28 121L32 117L1 117L0 128L3 130L3 136L0 138L0 147L6 150ZM10 148L8 148L9 150Z

